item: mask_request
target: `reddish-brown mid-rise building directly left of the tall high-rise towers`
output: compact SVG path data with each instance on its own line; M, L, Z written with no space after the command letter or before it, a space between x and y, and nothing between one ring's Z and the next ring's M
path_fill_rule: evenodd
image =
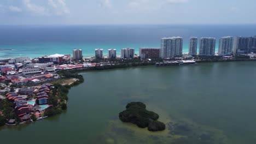
M141 57L141 59L159 58L160 57L160 48L141 47L141 48L139 48L139 56Z

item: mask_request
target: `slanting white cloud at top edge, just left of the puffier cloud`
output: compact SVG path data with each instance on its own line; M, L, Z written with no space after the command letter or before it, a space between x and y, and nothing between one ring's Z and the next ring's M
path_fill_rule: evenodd
M28 11L37 15L48 15L46 9L43 6L31 3L31 0L23 0L23 4Z

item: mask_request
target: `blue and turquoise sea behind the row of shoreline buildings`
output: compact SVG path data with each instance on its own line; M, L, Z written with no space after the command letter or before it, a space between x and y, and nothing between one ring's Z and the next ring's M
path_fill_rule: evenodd
M55 53L72 54L82 49L85 57L94 56L94 49L160 47L163 37L184 38L183 52L188 52L189 37L227 35L256 35L256 25L112 25L112 26L0 26L0 58L29 56L31 58Z

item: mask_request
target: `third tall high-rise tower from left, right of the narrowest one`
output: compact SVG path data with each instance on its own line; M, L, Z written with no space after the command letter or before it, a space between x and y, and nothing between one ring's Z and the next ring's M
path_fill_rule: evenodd
M201 38L199 55L201 56L214 56L215 54L216 38Z

